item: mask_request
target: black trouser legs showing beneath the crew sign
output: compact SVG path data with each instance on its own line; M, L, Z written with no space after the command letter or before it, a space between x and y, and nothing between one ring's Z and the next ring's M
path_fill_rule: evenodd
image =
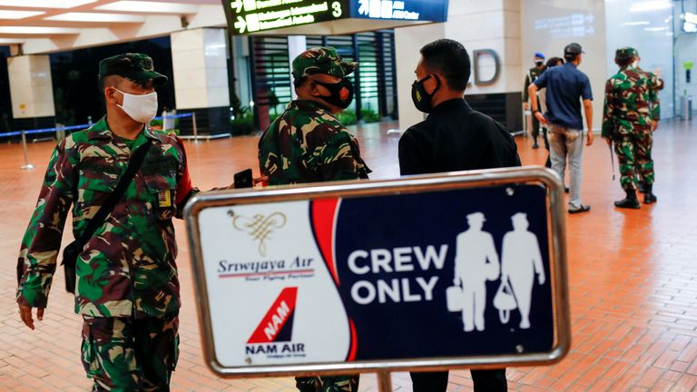
M475 392L506 392L506 369L470 370L472 381L475 384ZM446 392L447 371L411 373L411 382L414 392Z

